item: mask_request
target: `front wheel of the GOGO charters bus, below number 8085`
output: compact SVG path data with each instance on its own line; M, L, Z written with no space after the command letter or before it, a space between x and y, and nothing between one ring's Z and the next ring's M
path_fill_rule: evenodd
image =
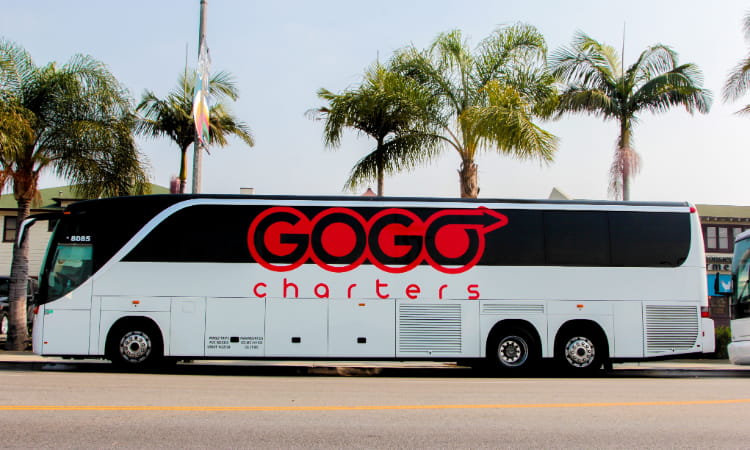
M146 321L121 323L109 333L107 358L126 370L154 368L164 359L161 332Z

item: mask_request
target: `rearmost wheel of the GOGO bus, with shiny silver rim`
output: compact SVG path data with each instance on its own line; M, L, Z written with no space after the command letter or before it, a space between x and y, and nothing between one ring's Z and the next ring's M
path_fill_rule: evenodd
M568 374L593 375L608 360L605 337L594 327L562 331L555 340L555 360Z

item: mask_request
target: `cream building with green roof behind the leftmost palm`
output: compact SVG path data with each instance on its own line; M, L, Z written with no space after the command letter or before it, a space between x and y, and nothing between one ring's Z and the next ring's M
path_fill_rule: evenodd
M169 189L151 185L154 194L168 194ZM69 204L81 200L76 198L70 186L61 186L39 191L40 201L32 205L31 214L59 211ZM18 205L13 194L0 197L0 220L2 220L3 234L0 242L0 275L10 275L10 265L13 259L13 244L16 239ZM29 233L29 275L36 276L44 258L52 229L52 224L40 223L31 227Z

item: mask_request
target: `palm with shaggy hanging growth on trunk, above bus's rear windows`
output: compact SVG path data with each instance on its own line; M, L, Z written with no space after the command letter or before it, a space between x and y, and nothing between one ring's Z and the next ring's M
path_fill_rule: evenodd
M711 92L702 88L698 66L679 64L677 53L661 44L644 50L625 70L613 47L578 33L571 47L550 56L550 70L567 84L560 94L559 115L583 112L619 122L610 192L623 200L630 199L630 179L639 170L632 141L638 114L680 105L690 114L711 108Z

